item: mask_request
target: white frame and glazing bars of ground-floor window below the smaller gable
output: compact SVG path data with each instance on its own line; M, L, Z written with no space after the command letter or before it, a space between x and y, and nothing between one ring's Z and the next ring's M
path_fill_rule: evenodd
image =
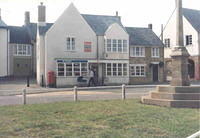
M108 75L108 64L111 64L111 75ZM116 64L116 75L114 75L113 64ZM121 75L119 75L119 64L121 64ZM124 65L126 64L126 75L124 75ZM128 76L128 63L106 63L106 77L127 77Z

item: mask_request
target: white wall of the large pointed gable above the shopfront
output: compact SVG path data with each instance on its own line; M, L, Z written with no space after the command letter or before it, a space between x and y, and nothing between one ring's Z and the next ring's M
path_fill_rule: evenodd
M66 51L66 38L75 37L75 51ZM71 4L48 30L45 37L45 74L56 72L55 58L96 59L97 37ZM92 52L84 52L84 42L92 42ZM47 80L47 78L45 78Z

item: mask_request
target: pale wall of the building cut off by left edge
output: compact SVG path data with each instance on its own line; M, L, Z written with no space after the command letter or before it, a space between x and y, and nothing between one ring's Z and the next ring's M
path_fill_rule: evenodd
M7 76L8 31L0 28L0 77Z

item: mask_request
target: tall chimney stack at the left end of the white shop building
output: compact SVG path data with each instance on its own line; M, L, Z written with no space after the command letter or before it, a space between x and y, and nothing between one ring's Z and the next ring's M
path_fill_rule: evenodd
M46 25L46 7L43 5L43 2L38 6L38 23L40 26Z

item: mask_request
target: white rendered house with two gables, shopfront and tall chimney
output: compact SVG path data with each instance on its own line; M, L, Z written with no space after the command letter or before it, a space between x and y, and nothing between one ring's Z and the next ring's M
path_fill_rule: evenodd
M80 14L70 4L54 24L45 21L45 6L40 5L38 84L48 86L53 71L57 87L78 85L77 78L87 77L89 68L100 84L129 83L129 35L119 16Z

